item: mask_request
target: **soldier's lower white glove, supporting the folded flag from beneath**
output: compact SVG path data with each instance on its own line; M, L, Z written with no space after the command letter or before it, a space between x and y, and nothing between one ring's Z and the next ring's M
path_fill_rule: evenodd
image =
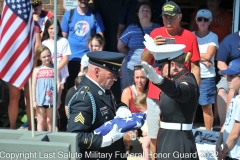
M114 124L112 130L108 134L103 136L101 147L103 148L106 146L110 146L113 142L122 138L123 135L124 133L118 131L118 126Z

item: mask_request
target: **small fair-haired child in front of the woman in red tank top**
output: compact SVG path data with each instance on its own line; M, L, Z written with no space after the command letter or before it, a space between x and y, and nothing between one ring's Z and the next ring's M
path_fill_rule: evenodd
M140 112L147 114L146 99L147 99L147 96L145 93L139 94L134 100L134 105ZM145 121L141 130L142 130L142 135L143 135L143 142L142 142L143 160L149 160L149 157L150 157L149 156L150 155L149 148L150 148L151 138L148 136L147 121Z

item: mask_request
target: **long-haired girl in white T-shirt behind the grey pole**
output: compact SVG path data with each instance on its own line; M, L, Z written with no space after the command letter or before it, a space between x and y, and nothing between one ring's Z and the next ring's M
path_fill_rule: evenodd
M57 108L59 108L61 104L62 89L64 88L64 83L69 76L67 63L68 57L71 54L71 50L68 40L62 36L62 29L59 21L57 21L57 26L57 69L58 76L60 78L60 80L57 82ZM52 53L52 58L54 57L54 31L54 18L49 18L45 24L45 29L42 36L42 44L50 49Z

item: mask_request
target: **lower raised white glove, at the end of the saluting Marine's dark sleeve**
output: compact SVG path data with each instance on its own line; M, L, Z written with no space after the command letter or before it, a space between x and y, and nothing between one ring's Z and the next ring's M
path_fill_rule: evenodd
M141 62L143 68L143 74L145 77L147 77L150 81L152 81L155 84L161 84L163 81L163 77L154 70L154 68L149 65L147 62Z

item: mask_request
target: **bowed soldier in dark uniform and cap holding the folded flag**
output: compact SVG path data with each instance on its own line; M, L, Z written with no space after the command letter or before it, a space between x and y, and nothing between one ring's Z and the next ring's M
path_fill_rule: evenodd
M126 160L122 139L124 133L119 132L116 125L105 136L93 132L115 116L120 118L132 116L124 103L115 102L110 90L120 76L119 70L125 55L97 51L89 52L87 56L88 71L79 84L74 99L72 98L67 130L78 134L81 160Z

